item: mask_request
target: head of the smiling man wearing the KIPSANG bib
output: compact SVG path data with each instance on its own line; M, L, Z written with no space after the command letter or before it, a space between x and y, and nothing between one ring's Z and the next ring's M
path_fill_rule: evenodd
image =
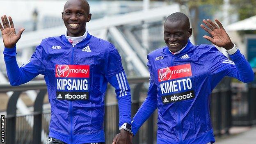
M82 0L70 0L64 7L62 19L68 36L79 37L85 33L86 22L91 20L91 14Z

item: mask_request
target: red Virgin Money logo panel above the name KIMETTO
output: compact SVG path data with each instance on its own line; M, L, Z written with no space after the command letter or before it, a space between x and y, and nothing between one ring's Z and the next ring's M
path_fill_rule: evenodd
M181 64L158 69L158 82L192 76L190 64Z

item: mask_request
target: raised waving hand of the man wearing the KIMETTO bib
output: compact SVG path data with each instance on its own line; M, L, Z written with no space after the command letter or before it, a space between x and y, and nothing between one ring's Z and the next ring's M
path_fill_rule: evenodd
M233 48L234 44L229 38L229 35L226 33L226 30L224 30L222 24L217 19L215 19L215 21L219 25L219 27L210 19L207 19L207 21L205 19L203 20L203 23L206 24L208 28L202 24L200 26L203 28L203 30L205 30L212 36L209 37L204 35L203 38L208 39L216 46L223 47L226 50Z

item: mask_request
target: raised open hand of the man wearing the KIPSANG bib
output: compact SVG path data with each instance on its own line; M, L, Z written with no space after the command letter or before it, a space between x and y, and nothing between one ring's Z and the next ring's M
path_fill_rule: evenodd
M3 27L0 23L0 29L1 29L1 32L2 32L2 39L4 41L5 47L6 48L13 48L16 45L16 43L18 42L18 40L21 39L21 34L25 29L22 28L18 32L18 34L16 34L12 19L11 19L10 16L8 18L9 18L10 24L7 20L6 15L1 16Z

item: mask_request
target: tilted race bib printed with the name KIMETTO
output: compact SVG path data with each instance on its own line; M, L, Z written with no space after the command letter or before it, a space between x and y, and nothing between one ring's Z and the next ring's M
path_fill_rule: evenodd
M184 101L195 97L190 64L158 69L160 96L163 104Z

